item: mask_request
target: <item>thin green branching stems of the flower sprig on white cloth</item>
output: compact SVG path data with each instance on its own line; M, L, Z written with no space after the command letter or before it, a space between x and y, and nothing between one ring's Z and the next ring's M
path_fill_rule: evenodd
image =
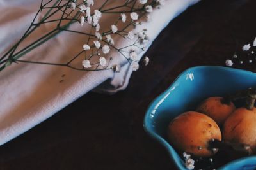
M108 66L102 67L102 68L100 67L99 62L92 63L93 69L85 69L84 67L79 68L79 67L72 66L72 62L75 59L77 59L77 57L82 55L83 52L85 55L85 59L87 58L88 60L90 60L92 57L95 57L95 56L99 57L98 53L100 52L100 50L102 50L102 48L96 49L95 45L89 45L89 43L91 42L90 40L96 39L97 36L95 36L94 31L93 31L93 28L95 28L95 26L93 24L88 24L88 17L85 17L85 23L91 27L89 33L68 29L70 24L73 24L75 22L80 22L80 17L82 15L82 13L79 11L79 10L81 10L80 5L81 4L86 5L86 1L81 0L81 1L79 1L80 3L78 3L78 1L77 1L76 9L79 9L79 10L68 10L68 9L72 9L72 6L70 3L74 3L74 2L75 1L72 1L72 0L64 0L64 1L63 0L49 0L44 4L44 0L41 0L40 1L40 9L36 12L36 15L33 18L31 25L29 25L28 29L23 34L22 38L20 38L20 40L17 43L15 43L15 45L13 45L12 48L10 48L10 50L8 50L8 52L4 53L4 55L0 58L0 71L3 70L4 67L12 64L12 62L26 62L26 63L33 63L33 64L48 64L48 65L55 65L55 66L67 66L72 69L76 69L76 70L80 70L80 71L100 71L100 70L111 69L111 67L108 68L109 63L111 62L111 59L109 59ZM139 13L139 16L140 16L139 19L141 17L143 17L143 15L145 15L146 4L139 6L139 4L137 3L138 2L137 0L127 0L127 1L125 1L124 4L121 4L118 6L113 6L108 9L106 9L106 8L104 9L104 7L107 6L108 2L109 2L109 0L104 0L104 3L102 3L100 8L98 8L98 10L102 14L132 13L132 12L140 12L141 11L141 13ZM51 4L51 6L49 4ZM156 3L156 1L151 0L151 2L148 1L147 4L150 4L154 7L154 4L157 4L157 3ZM47 9L47 11L44 14L44 17L42 19L40 19L38 22L35 22L36 19L38 18L39 13L46 9ZM74 15L75 11L77 11L77 12ZM56 14L58 14L58 12L61 13L61 17L60 18L54 17ZM74 17L72 15L74 15ZM93 17L93 15L95 15L95 14L91 13L92 17ZM116 22L113 24L118 25L118 22L120 21L120 19L121 19L121 17L119 16L118 19L116 20ZM25 46L24 48L22 48L18 52L16 52L17 48L20 46L20 43L22 43L24 41L24 39L28 38L28 36L31 35L31 33L34 32L40 25L48 24L48 23L55 24L54 22L56 22L56 27L54 29L52 29L49 32L46 32L45 35L40 36L35 41L33 41L33 43L30 43L29 45ZM118 36L122 36L122 38L125 38L125 36L127 36L127 34L128 34L127 28L132 25L134 25L134 27L135 27L136 26L135 23L136 22L134 20L130 20L129 22L126 22L124 27L122 27L121 30L115 32L115 34ZM51 63L51 62L35 62L35 61L30 61L30 60L20 60L20 57L26 55L26 53L28 53L28 52L31 52L31 50L42 45L49 39L54 38L56 35L60 34L60 32L63 32L63 31L73 32L76 34L83 34L84 36L88 36L87 44L91 48L90 53L88 51L89 56L86 57L86 51L82 50L81 52L78 52L76 56L72 57L72 59L68 60L68 62L65 64ZM102 37L107 36L107 35L115 35L115 34L111 30L101 33ZM112 45L110 42L106 41L105 39L102 39L99 41L102 41L102 42L108 44L109 46L111 46L114 50L116 50L118 53L120 53L122 56L124 56L125 59L127 59L127 61L129 62L129 64L131 64L132 61L131 61L131 59L129 59L129 56L126 57L124 55L123 49L129 48L131 46L136 46L137 48L143 49L140 47L140 45L137 45L137 43L141 43L141 41L142 41L141 39L140 39L140 42L137 39L132 45L128 45L128 46L125 46L125 47L122 47L119 49L116 48L114 45Z

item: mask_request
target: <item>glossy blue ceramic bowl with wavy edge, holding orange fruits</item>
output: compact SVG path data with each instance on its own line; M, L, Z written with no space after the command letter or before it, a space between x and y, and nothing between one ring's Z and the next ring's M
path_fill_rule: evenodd
M168 143L169 122L184 111L195 110L200 101L211 96L256 87L256 74L219 66L199 66L187 69L149 106L144 119L145 131L166 148L178 169L186 169L183 159ZM222 170L256 169L256 157L229 162Z

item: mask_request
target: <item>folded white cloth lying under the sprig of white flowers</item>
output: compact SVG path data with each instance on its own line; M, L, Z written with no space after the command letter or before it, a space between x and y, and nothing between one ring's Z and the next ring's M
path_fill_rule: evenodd
M143 22L142 25L136 27L136 31L147 28L150 45L170 20L197 1L166 0L164 6L152 13L152 21ZM109 5L120 2L113 1ZM100 3L103 1L95 1L95 5ZM26 31L39 5L40 0L0 0L1 54L19 40L22 32ZM107 22L111 19L111 16L104 18ZM73 24L72 27L81 26ZM101 27L104 29L104 24ZM39 29L40 33L49 28L42 25ZM118 46L125 46L126 41L122 38L115 38L115 42ZM26 59L61 62L70 55L75 55L81 45L83 45L83 38L80 35L61 32L56 38L31 51L26 55ZM140 58L143 53L145 52L140 52ZM24 63L12 64L1 71L0 145L51 117L90 90L114 93L125 89L132 69L127 60L120 57L118 52L113 51L109 55L113 57L113 62L122 66L120 73L112 70L85 72L68 67Z

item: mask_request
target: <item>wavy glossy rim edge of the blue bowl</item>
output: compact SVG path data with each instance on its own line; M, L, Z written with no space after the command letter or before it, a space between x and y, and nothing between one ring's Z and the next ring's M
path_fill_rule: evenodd
M147 132L147 134L151 138L156 140L160 145L164 146L164 148L168 152L168 155L172 159L175 166L178 169L182 169L182 170L186 170L186 167L184 166L184 160L182 160L179 157L180 160L182 160L182 161L177 161L177 159L173 156L173 155L177 155L177 153L175 152L174 148L172 148L172 146L168 143L168 141L166 141L164 138L159 136L159 134L157 134L156 132L150 131L150 127L149 127L150 123L148 122L148 117L150 117L150 113L152 113L152 110L163 99L163 97L166 96L166 94L168 92L172 91L173 87L175 86L176 81L179 80L179 78L181 76L183 76L185 73L189 73L189 72L191 72L192 70L195 70L195 69L221 69L221 70L224 70L224 71L233 71L233 72L236 72L236 73L239 72L239 73L243 73L243 74L253 74L254 76L256 75L252 71L246 71L246 70L243 70L243 69L235 69L235 68L223 67L223 66L195 66L195 67L189 67L188 69L182 71L182 73L180 73L179 76L177 76L177 78L175 78L175 80L171 83L171 85L166 90L161 92L161 94L159 94L157 97L155 97L152 100L152 102L148 105L148 108L147 108L147 111L146 111L146 114L145 114L144 120L143 120L143 128L144 128L145 132ZM244 157L244 158L241 158L241 159L233 160L233 161L228 162L227 164L219 167L218 169L219 170L220 169L221 170L228 170L234 165L244 164L244 161L246 161L246 163L247 162L248 163L256 162L256 156ZM256 166L256 163L255 163L255 166Z

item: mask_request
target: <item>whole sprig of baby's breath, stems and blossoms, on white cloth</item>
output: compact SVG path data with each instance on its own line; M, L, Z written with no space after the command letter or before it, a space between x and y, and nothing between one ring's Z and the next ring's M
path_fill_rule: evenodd
M45 2L46 1L46 2ZM150 37L147 34L147 29L135 31L137 25L143 25L143 22L150 22L151 13L155 8L164 5L165 0L41 0L41 6L36 13L34 20L28 28L28 31L22 36L20 41L13 46L6 54L0 57L0 71L12 64L12 62L27 62L34 64L51 64L56 66L67 66L72 69L81 71L98 71L104 69L113 69L120 71L121 66L114 63L111 55L118 52L124 57L132 67L133 71L138 70L140 52L145 50ZM51 4L51 6L49 6ZM116 6L113 6L116 4ZM38 17L42 11L45 11L43 17ZM112 23L104 22L104 16L111 14ZM38 18L38 22L36 22ZM57 19L56 19L57 18ZM104 24L102 24L104 22ZM70 24L80 25L77 30L70 30ZM52 31L49 31L38 41L21 49L20 52L15 52L22 41L27 38L37 27L43 24L56 24ZM109 24L109 25L108 25ZM89 28L89 29L88 29ZM91 29L90 29L91 28ZM90 30L90 32L84 32ZM28 53L44 43L45 39L51 39L56 34L62 31L69 31L77 34L83 34L84 43L81 44L81 51L77 55L70 57L65 64L37 62L33 60L22 60L20 57L24 53ZM52 34L54 32L54 34ZM125 45L120 46L116 43L117 39L125 39ZM39 41L40 40L40 41ZM77 60L80 59L81 65L77 65ZM76 66L74 61L76 60ZM143 59L145 65L148 65L149 58Z

